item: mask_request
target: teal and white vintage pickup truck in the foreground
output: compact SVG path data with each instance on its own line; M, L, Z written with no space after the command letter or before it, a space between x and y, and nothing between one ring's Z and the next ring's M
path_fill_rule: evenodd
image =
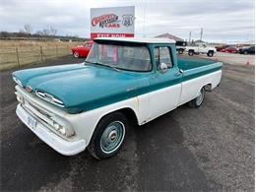
M16 71L17 115L62 155L114 156L143 125L220 84L220 62L177 59L175 41L96 38L84 63Z

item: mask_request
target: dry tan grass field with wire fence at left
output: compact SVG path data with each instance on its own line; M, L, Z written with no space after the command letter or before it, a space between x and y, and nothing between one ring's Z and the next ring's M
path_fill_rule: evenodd
M73 45L0 47L0 71L71 54Z

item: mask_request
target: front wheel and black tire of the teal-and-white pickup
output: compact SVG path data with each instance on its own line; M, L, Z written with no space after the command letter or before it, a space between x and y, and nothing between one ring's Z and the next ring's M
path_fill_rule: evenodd
M98 160L115 156L124 143L128 127L128 120L123 113L106 115L97 123L88 151Z

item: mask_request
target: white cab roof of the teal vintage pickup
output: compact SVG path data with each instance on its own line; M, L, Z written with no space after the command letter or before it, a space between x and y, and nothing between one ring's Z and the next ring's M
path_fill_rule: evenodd
M136 43L175 43L175 40L169 38L97 37L94 40L112 40Z

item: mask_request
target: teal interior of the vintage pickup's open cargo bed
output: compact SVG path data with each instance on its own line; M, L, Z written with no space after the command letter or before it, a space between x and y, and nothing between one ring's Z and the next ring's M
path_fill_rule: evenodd
M189 69L208 66L217 62L210 59L204 59L204 58L198 58L198 57L178 56L177 63L180 69L186 71Z

